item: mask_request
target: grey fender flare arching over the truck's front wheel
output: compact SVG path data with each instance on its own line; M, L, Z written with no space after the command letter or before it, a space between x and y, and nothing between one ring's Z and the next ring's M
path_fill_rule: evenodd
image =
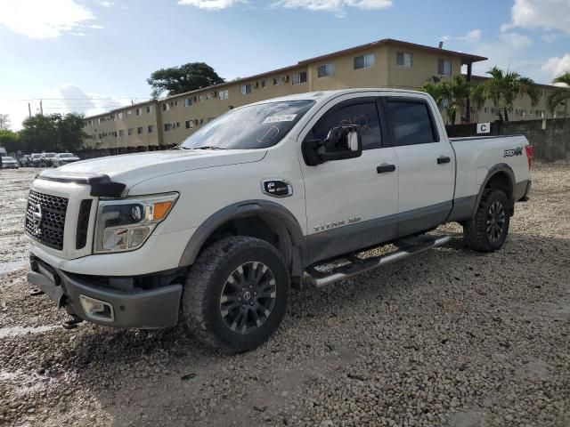
M227 205L215 214L210 215L192 234L184 248L178 266L188 267L192 265L196 261L204 243L206 243L212 233L225 222L248 216L259 216L265 219L269 222L270 226L274 225L275 228L278 229L276 230L277 232L279 232L279 230L281 230L281 233L283 233L284 230L287 231L289 235L288 238L293 246L290 254L293 276L296 275L294 274L296 271L302 272L306 254L306 238L303 235L301 226L297 222L297 218L291 214L286 207L262 199L244 200L232 205Z

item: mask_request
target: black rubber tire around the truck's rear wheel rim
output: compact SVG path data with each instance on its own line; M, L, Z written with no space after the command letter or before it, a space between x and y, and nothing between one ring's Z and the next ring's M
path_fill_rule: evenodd
M499 203L504 212L504 223L499 238L493 240L487 233L487 221L493 204ZM476 214L463 224L463 240L470 248L478 252L494 252L505 243L509 234L509 199L502 189L485 189ZM495 205L496 206L496 205Z

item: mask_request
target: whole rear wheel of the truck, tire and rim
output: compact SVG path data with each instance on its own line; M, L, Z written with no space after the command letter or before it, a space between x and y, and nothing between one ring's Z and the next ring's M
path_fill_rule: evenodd
M463 238L471 249L493 252L509 233L509 199L502 189L485 189L476 214L463 225Z

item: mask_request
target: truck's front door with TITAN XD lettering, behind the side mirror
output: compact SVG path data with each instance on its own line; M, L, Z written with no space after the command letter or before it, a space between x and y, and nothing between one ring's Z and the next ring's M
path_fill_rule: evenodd
M383 145L377 93L354 93L330 101L299 135L305 180L309 257L312 262L372 246L395 237L398 165L395 149ZM359 125L362 156L305 165L301 143L324 139L338 125Z

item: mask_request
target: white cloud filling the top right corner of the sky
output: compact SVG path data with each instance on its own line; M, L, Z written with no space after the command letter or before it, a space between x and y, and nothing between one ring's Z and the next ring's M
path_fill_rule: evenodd
M570 33L570 0L515 0L510 15L511 21L501 30L545 28Z

